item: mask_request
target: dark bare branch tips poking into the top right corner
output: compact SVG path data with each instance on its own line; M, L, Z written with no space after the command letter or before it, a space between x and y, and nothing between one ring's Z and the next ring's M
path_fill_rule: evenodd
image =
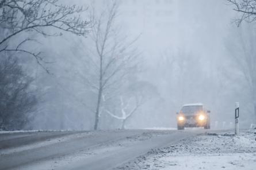
M240 13L240 17L234 21L239 26L242 21L256 21L256 1L255 0L227 0L231 5L235 6L234 10Z

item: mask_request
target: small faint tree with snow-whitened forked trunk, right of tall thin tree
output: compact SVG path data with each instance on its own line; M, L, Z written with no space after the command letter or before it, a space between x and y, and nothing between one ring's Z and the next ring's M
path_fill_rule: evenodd
M155 86L143 80L137 80L137 74L129 75L129 78L123 80L124 86L112 98L112 102L103 98L104 107L102 113L108 113L110 117L121 120L121 129L125 129L128 119L139 114L150 101L158 96ZM105 103L106 102L106 103Z

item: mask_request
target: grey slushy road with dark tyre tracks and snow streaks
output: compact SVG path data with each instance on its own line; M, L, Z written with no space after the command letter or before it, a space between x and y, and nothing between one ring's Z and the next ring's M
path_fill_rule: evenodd
M0 169L112 169L151 149L211 130L0 134Z

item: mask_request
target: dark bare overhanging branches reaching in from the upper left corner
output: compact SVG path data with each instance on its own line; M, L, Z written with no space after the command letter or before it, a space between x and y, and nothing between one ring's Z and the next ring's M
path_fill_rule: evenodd
M29 51L24 45L32 38L22 38L10 43L22 33L36 32L43 36L60 36L62 32L70 32L78 36L86 36L89 22L82 20L80 13L86 9L79 6L60 5L58 0L0 0L0 53L21 52L35 57L37 63L46 71L40 52ZM49 33L46 28L55 28ZM60 32L58 32L59 30Z

